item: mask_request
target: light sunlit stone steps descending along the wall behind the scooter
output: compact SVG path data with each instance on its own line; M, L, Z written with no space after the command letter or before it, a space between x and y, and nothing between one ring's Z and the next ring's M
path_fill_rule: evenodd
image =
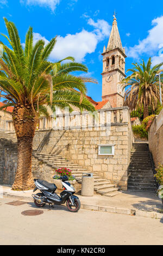
M72 174L76 177L76 180L79 183L82 183L83 173L87 173L86 168L83 168L82 166L79 166L78 164L75 164L59 155L52 156L52 155L43 154L43 153L34 153L34 156L39 161L42 161L48 164L48 166L52 166L52 168L66 167L68 169L71 169ZM114 184L111 184L109 180L105 180L96 174L94 174L93 176L95 179L94 187L95 187L96 193L101 194L102 196L107 196L107 197L114 197L119 193L118 188Z

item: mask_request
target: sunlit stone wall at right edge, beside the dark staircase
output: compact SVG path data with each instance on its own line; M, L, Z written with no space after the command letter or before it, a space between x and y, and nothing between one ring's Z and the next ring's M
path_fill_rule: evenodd
M155 166L163 163L163 109L153 120L148 131L149 150L153 155Z

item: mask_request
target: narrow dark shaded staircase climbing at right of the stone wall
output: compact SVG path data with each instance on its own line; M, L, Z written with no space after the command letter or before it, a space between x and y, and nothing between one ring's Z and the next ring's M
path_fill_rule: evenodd
M134 143L129 164L128 190L155 192L156 182L147 143Z

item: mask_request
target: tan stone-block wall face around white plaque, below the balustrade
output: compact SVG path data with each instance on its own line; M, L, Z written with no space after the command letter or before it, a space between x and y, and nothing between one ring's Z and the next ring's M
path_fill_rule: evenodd
M61 155L126 190L131 142L131 126L119 123L111 126L110 136L95 127L92 131L36 131L33 145L41 153ZM99 144L115 144L115 155L99 156Z

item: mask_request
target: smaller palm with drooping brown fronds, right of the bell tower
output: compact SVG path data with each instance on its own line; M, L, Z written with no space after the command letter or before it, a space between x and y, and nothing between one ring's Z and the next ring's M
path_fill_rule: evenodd
M124 106L129 106L132 110L143 108L143 118L148 116L148 108L151 106L154 112L160 99L159 78L156 74L162 71L163 63L151 68L151 58L147 65L143 61L142 64L133 63L134 68L127 70L132 72L130 76L124 78L122 83L125 83L123 89L128 87L124 97ZM161 84L163 82L163 74L160 75Z

